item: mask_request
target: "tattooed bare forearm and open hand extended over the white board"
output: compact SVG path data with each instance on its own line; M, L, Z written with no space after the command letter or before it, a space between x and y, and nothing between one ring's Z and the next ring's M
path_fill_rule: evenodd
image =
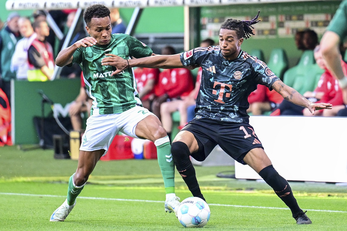
M288 100L289 102L303 106L308 108L312 115L314 115L315 110L321 110L321 109L331 109L332 105L331 104L326 104L326 103L319 103L319 104L314 104L305 97L303 97L299 92L297 92L294 88L291 88L287 85L285 85L281 80L277 80L274 82L271 86L272 89L277 91L281 96Z

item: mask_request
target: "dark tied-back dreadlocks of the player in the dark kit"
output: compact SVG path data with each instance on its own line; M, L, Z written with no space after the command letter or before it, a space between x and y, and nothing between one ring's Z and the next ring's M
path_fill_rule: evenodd
M257 20L259 17L259 13L260 13L260 11L258 11L257 16L255 16L255 18L253 18L251 21L241 21L241 20L229 18L221 25L220 28L221 29L228 29L228 30L235 30L238 38L247 39L247 38L251 37L251 35L254 35L253 30L251 28L254 29L254 27L252 25L256 24L260 21L260 20Z

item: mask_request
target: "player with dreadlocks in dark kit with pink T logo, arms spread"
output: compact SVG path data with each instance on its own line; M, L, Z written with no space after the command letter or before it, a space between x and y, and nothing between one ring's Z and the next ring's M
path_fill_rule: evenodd
M204 199L189 156L203 161L218 144L229 156L253 168L273 188L290 208L297 224L311 224L311 220L298 206L287 180L273 168L253 127L249 125L247 97L258 84L262 84L270 90L276 90L286 100L308 108L312 114L315 110L330 109L332 105L308 101L285 85L264 62L241 50L244 38L253 34L251 28L259 22L258 16L259 12L252 21L225 21L220 28L219 46L197 47L176 55L128 60L129 63L117 56L104 58L102 62L103 65L117 68L112 74L133 66L201 66L203 73L196 99L195 118L177 134L171 145L176 168L193 196Z

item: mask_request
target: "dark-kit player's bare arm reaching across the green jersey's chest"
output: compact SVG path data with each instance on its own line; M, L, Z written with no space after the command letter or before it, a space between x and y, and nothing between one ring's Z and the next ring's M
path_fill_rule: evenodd
M111 65L117 68L111 75L118 74L124 69L133 68L135 66L142 68L183 68L180 60L180 54L175 55L154 55L140 59L122 59L114 54L106 54L101 61L101 65Z

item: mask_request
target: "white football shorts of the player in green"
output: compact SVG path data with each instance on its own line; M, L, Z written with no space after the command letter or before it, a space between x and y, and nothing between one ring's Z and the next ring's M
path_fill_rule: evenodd
M104 149L107 151L119 131L138 138L135 135L136 125L149 115L154 114L137 105L119 114L91 115L87 119L86 131L82 136L82 144L79 150L95 151Z

